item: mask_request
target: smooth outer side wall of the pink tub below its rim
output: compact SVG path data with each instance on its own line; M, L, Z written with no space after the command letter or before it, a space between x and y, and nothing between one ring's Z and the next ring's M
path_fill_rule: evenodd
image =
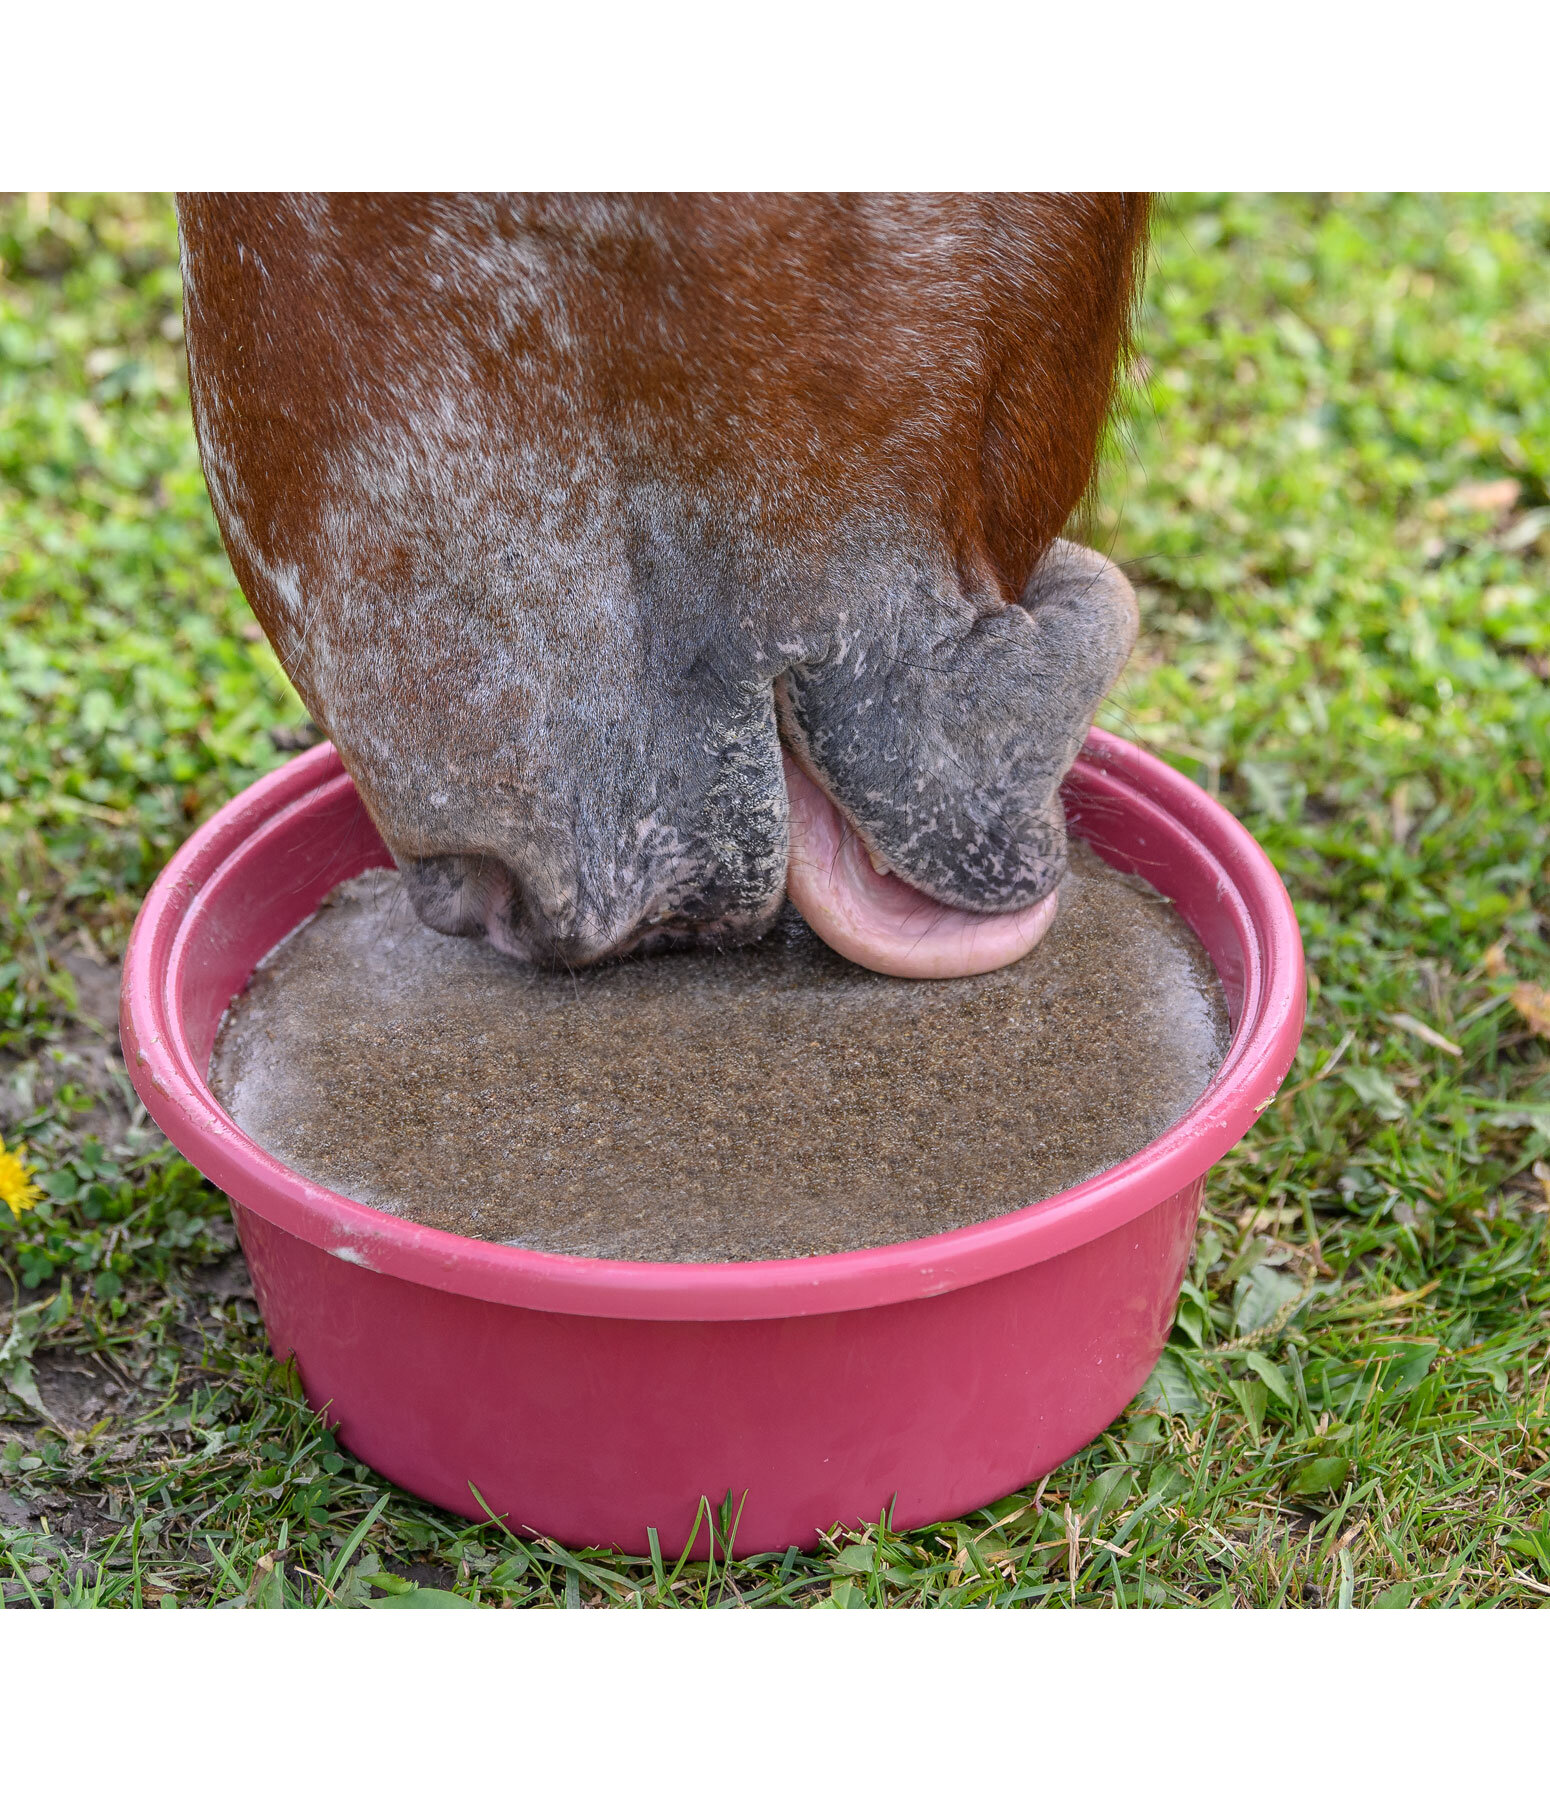
M677 1557L700 1496L743 1553L900 1530L1041 1480L1158 1361L1203 1183L1030 1267L868 1310L720 1321L497 1305L355 1267L236 1208L277 1355L342 1444L466 1517ZM704 1530L698 1553L707 1550Z

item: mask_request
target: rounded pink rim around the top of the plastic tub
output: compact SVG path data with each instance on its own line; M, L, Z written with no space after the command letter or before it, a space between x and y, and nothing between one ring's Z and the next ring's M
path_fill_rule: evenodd
M124 954L121 1039L135 1091L171 1143L238 1208L378 1274L542 1312L616 1319L763 1319L848 1312L947 1294L1122 1229L1201 1181L1275 1098L1303 1024L1303 950L1280 875L1219 801L1159 758L1093 729L1078 763L1167 815L1215 864L1217 902L1244 952L1228 1055L1168 1130L1113 1168L981 1224L875 1249L765 1262L623 1262L457 1237L308 1181L247 1138L216 1102L180 1019L182 965L200 895L283 814L349 776L320 743L227 801L153 882Z

